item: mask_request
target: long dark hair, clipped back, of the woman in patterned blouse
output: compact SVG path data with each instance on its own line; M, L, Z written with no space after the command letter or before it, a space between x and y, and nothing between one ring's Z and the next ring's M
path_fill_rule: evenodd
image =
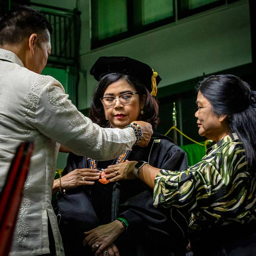
M250 105L250 85L230 75L204 78L197 90L211 103L217 115L227 115L230 132L236 132L245 148L250 167L256 167L256 109Z

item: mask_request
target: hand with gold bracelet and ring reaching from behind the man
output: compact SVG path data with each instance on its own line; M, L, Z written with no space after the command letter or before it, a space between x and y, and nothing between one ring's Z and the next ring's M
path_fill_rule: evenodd
M100 173L97 169L75 169L61 177L61 188L71 189L82 185L93 185L99 178ZM52 193L58 191L58 180L54 180Z

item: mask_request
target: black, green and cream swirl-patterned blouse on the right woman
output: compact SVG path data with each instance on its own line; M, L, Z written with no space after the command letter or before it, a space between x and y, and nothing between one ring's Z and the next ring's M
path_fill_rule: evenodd
M225 136L186 171L161 170L155 178L154 206L191 210L196 231L230 223L255 223L255 170L247 167L237 134Z

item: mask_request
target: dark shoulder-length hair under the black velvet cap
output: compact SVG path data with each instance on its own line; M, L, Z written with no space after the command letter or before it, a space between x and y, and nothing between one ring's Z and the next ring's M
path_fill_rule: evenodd
M120 73L107 74L98 82L93 93L93 100L89 110L89 117L91 120L102 127L110 126L108 120L105 119L104 108L100 98L103 97L104 92L111 83L114 83L120 79L124 79L130 85L133 85L140 97L141 95L146 95L145 106L143 108L144 114L139 116L139 120L149 122L153 129L156 128L159 123L159 107L157 100L150 95L145 85L140 83L136 78Z

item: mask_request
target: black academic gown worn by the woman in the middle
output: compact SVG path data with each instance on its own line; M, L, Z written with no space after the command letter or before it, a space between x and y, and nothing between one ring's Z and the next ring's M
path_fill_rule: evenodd
M169 137L154 133L147 147L134 146L128 160L143 160L167 170L187 169L187 156ZM98 162L106 168L113 160ZM89 168L86 157L70 153L63 175ZM141 180L121 180L108 184L95 182L59 195L56 210L66 255L95 255L83 247L83 232L110 223L117 217L129 222L116 240L121 256L185 255L188 212L175 208L154 208L152 189Z

